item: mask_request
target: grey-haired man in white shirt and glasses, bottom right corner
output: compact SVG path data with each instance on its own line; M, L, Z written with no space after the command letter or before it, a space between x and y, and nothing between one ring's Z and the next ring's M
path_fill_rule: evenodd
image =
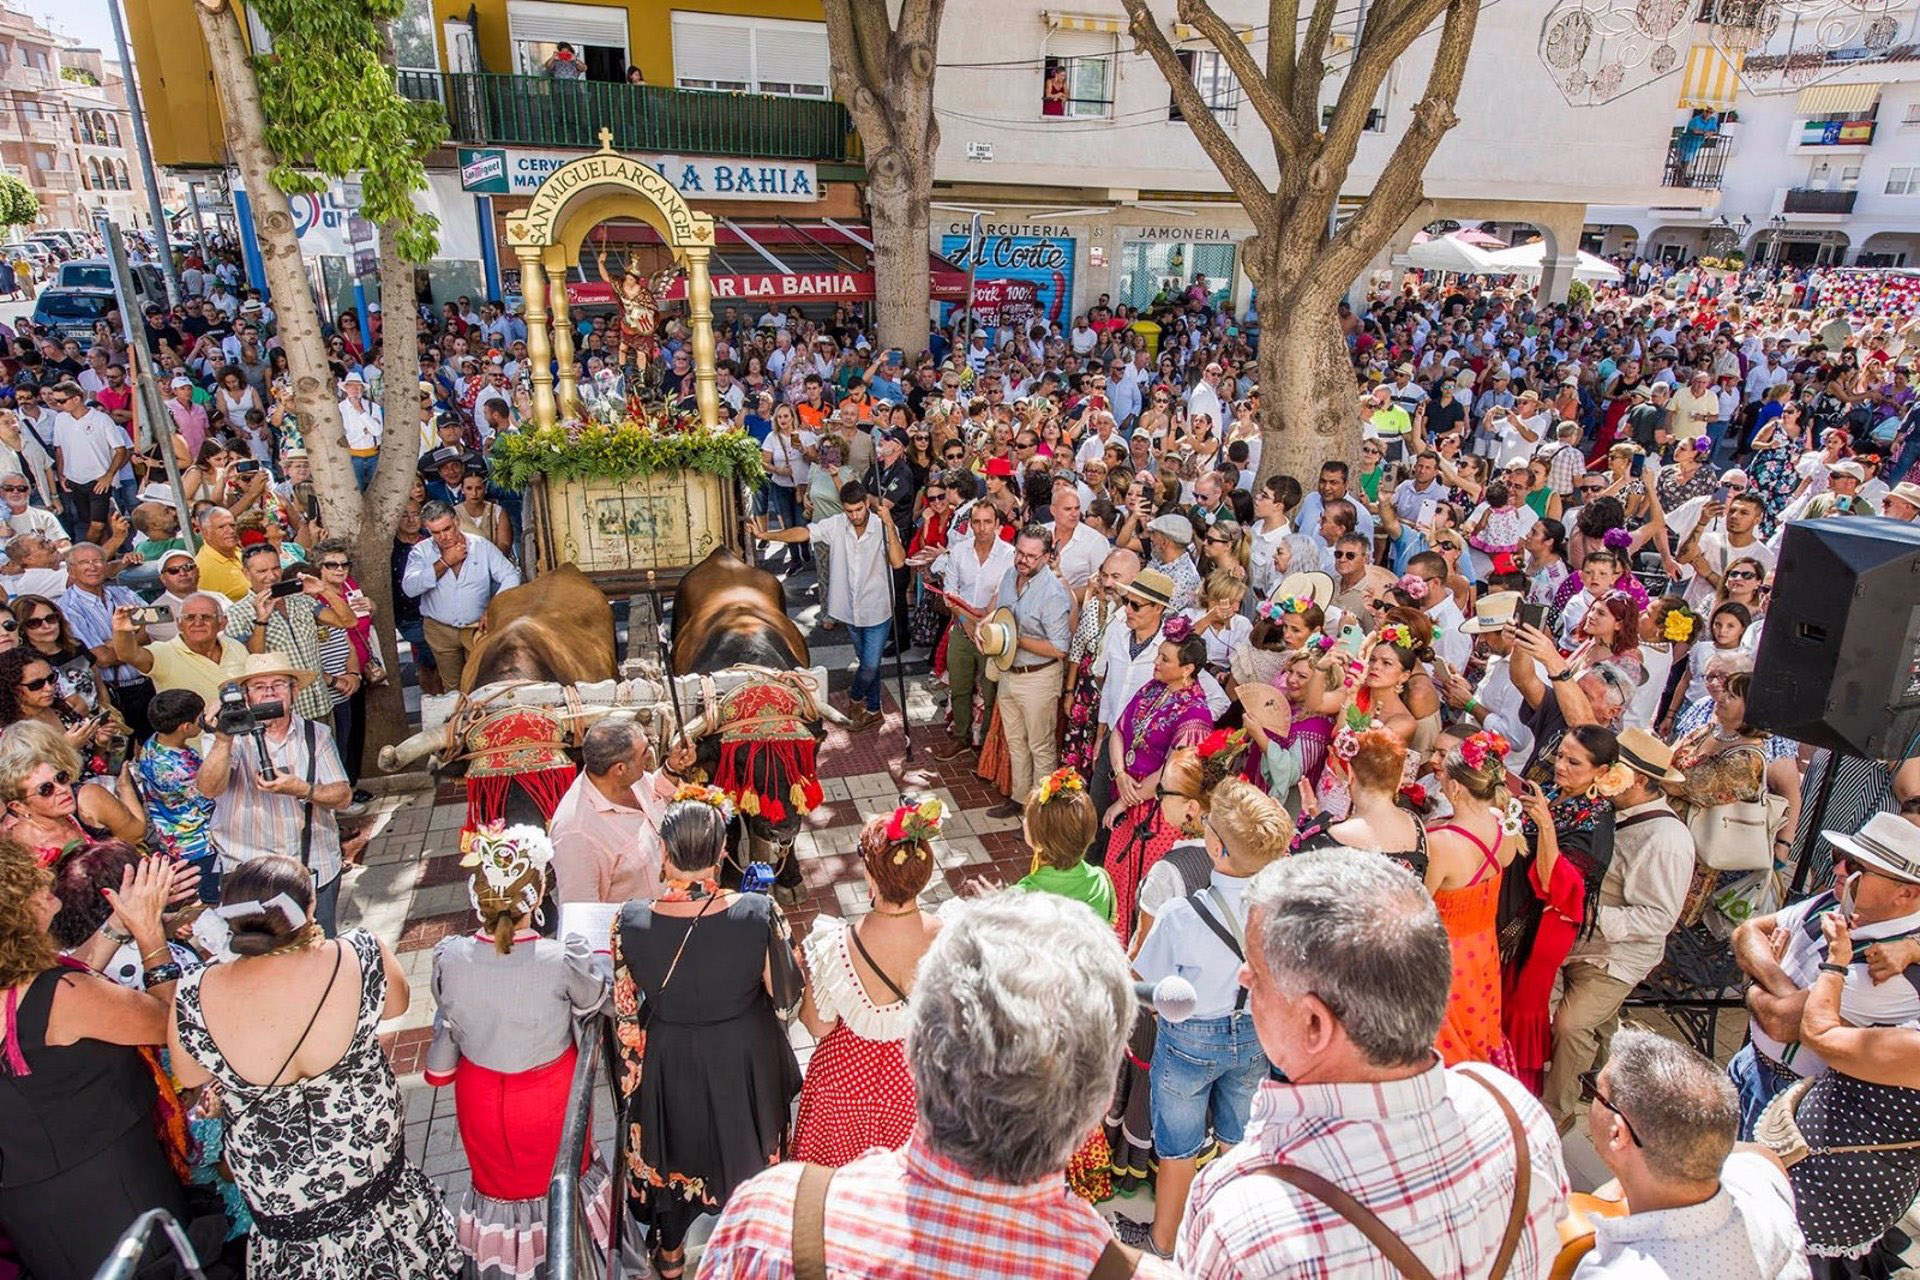
M1740 1105L1711 1061L1626 1029L1584 1094L1594 1151L1636 1207L1596 1219L1574 1280L1807 1280L1786 1169L1764 1148L1734 1144Z

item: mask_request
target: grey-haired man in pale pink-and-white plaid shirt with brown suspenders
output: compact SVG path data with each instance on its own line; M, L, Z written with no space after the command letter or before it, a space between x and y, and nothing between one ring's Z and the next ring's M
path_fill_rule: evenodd
M1434 1276L1544 1276L1567 1211L1559 1132L1513 1077L1434 1055L1452 952L1421 883L1379 854L1323 850L1269 865L1246 900L1242 981L1261 1048L1290 1082L1263 1084L1246 1138L1200 1171L1181 1274L1398 1280L1352 1221L1267 1173L1290 1165L1357 1199ZM1505 1272L1517 1144L1496 1090L1530 1153Z

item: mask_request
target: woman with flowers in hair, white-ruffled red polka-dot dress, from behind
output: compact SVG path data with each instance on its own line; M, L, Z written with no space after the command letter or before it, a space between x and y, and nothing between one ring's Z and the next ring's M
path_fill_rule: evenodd
M941 818L939 800L868 818L858 848L874 910L852 923L822 915L806 936L801 1021L820 1046L801 1088L793 1159L837 1169L870 1148L904 1146L914 1130L906 998L941 929L920 912Z

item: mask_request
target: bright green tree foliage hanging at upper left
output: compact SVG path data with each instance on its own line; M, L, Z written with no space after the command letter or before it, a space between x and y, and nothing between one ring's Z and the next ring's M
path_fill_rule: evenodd
M438 102L411 102L384 65L388 29L405 0L253 0L273 52L253 59L273 180L317 194L326 178L359 175L361 217L396 232L409 263L430 261L440 219L417 207L426 155L447 136ZM317 177L323 175L323 177Z

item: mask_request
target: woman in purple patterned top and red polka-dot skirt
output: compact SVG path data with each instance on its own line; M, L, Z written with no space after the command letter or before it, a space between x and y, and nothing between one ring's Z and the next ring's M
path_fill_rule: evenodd
M1213 729L1200 687L1206 641L1185 618L1167 618L1162 637L1154 677L1133 695L1108 735L1117 798L1106 810L1114 833L1106 869L1114 877L1114 927L1121 942L1133 938L1140 881L1179 837L1160 816L1160 771L1169 754L1198 745Z

